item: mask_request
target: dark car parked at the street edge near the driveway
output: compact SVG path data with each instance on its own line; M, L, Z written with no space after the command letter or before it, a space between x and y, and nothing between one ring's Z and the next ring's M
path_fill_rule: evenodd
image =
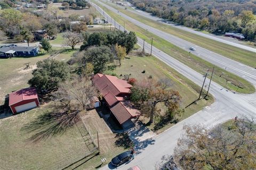
M113 158L111 160L111 164L117 167L124 163L130 162L132 159L133 159L133 151L129 150Z

